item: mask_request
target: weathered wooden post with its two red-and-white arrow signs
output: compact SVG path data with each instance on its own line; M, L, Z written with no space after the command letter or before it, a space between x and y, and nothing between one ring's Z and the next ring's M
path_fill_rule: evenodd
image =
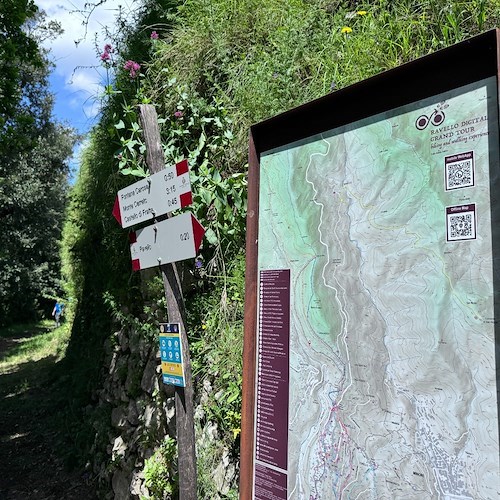
M190 214L173 218L164 215L191 203L187 164L181 162L173 168L165 169L156 110L152 105L143 104L139 106L139 115L146 143L146 162L152 175L118 193L113 215L123 227L155 219L153 226L131 233L132 267L139 270L160 266L168 321L170 325L178 325L185 384L184 387L175 386L179 497L181 500L195 500L197 481L193 380L184 298L175 261L196 255L204 229ZM166 231L171 231L170 239L166 237Z

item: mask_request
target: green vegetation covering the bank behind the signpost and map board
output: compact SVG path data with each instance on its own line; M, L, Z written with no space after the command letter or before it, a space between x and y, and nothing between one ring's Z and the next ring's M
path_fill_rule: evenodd
M75 296L80 293L77 311L109 292L115 312L126 306L132 316L143 314L146 297L129 271L126 236L111 227L108 214L116 190L132 182L124 176L147 173L135 105L155 104L165 159L189 159L191 210L207 228L202 266L187 269L192 279L185 289L201 404L197 432L211 423L218 433L198 449L201 498L220 494L213 471L221 457L238 456L249 126L492 27L499 21L497 7L493 1L187 0L177 8L168 3L156 23L139 23L127 35L141 40L133 47L140 72L132 77L123 68L126 51L114 54L116 81L106 89L105 112L83 157L69 212L70 221L91 221L80 224L80 236L74 225L66 227L65 240L74 241L69 252L64 245L66 266L72 262L79 270L66 275ZM149 39L153 29L158 39ZM127 37L113 43L131 50ZM80 192L85 196L76 203ZM95 262L102 267L86 269ZM161 286L157 294L156 301ZM76 314L90 320L83 310ZM105 325L100 335L109 331ZM78 329L76 323L73 338ZM85 330L87 337L95 326ZM171 463L159 461L158 453L145 469L155 495L162 484L155 471ZM237 478L231 487L228 496L237 491Z

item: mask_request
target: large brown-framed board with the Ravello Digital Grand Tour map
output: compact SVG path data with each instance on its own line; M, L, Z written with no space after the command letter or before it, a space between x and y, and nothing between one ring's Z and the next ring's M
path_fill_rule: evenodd
M500 498L499 33L252 127L242 498Z

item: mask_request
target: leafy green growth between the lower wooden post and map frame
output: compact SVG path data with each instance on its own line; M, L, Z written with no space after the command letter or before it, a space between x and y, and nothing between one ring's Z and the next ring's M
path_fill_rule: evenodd
M245 258L240 253L227 263L215 286L192 297L188 311L193 375L201 406L197 433L208 424L215 424L218 433L216 441L204 440L198 446L200 498L212 498L217 492L213 471L224 451L233 461L238 459L244 279Z

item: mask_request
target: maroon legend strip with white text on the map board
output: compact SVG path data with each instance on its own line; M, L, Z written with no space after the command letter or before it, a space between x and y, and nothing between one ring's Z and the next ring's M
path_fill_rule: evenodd
M260 273L256 460L286 471L290 270ZM256 486L259 484L256 474ZM266 497L267 498L267 497ZM286 498L276 496L276 498Z

